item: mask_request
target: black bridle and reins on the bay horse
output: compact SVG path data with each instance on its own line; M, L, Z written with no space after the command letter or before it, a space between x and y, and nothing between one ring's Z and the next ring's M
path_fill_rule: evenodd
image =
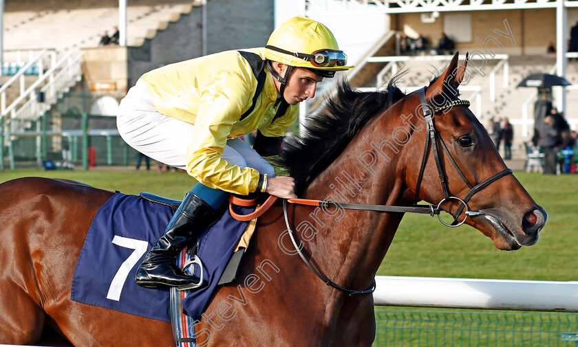
M292 241L293 245L295 246L297 254L299 254L299 256L301 256L301 259L303 260L303 262L305 262L306 265L313 271L313 273L315 273L315 275L317 277L319 277L321 280L323 280L323 282L325 282L325 284L327 284L328 286L333 287L335 289L339 289L340 291L344 291L345 293L348 293L350 296L351 295L361 295L361 294L373 293L375 291L375 287L376 287L375 279L373 280L372 286L369 289L365 289L363 291L354 291L354 290L346 289L346 288L339 286L338 284L332 282L331 280L329 280L328 278L323 276L323 274L321 274L317 269L315 269L311 265L309 260L307 260L307 258L303 255L303 252L301 251L301 248L303 248L303 243L301 243L301 247L299 245L297 245L297 240L296 240L296 235L295 235L296 233L291 229L291 227L289 225L289 218L288 218L288 213L287 213L287 201L289 201L290 203L298 203L298 204L302 204L302 205L317 205L317 206L321 206L324 208L344 208L344 209L351 209L351 210L369 210L369 211L379 211L379 212L412 212L412 213L424 213L424 214L427 213L427 214L430 214L431 216L434 216L434 214L437 214L440 222L442 222L447 227L458 227L459 225L462 225L466 221L468 216L479 216L479 215L484 214L484 212L482 212L482 211L469 210L467 203L470 201L471 197L473 197L473 195L475 193L480 192L480 190L482 190L486 186L489 186L494 181L497 181L497 179L500 179L500 178L512 173L512 170L507 168L506 170L502 170L502 171L498 172L497 174L493 175L492 177L485 179L481 183L478 183L475 186L472 186L471 183L469 183L469 181L464 176L464 173L462 172L462 170L460 170L460 167L458 166L458 164L456 164L456 161L453 159L453 157L451 157L451 154L449 153L447 146L445 145L442 138L440 137L440 134L439 134L438 130L436 129L436 125L434 123L434 115L436 112L445 111L445 110L447 110L451 107L454 107L454 106L469 106L470 102L468 100L453 100L452 102L445 104L443 107L438 107L438 108L434 109L427 103L427 100L425 98L425 91L426 90L427 90L427 87L423 87L422 89L420 89L418 91L419 97L420 97L420 105L421 105L421 109L423 111L423 117L424 117L425 123L426 123L427 135L425 137L425 148L424 148L424 153L423 153L423 157L422 157L422 163L420 166L420 173L418 175L417 186L416 186L416 190L414 192L414 205L413 206L370 205L370 204L363 204L363 203L334 203L332 201L320 201L320 200L310 200L310 199L288 199L288 200L283 199L283 215L285 216L286 227L288 230L288 234L291 238L291 241ZM449 187L448 187L448 183L446 180L446 174L442 168L442 164L440 161L438 142L442 146L444 152L446 153L447 157L451 161L451 164L453 165L453 167L456 168L456 171L458 171L458 174L460 175L460 177L462 177L462 180L470 188L469 192L466 194L464 199L460 199L458 197L454 197L453 195L449 194ZM434 160L436 161L436 166L438 168L438 174L440 177L440 183L441 183L442 190L444 193L444 198L438 203L438 205L435 208L434 208L434 205L418 205L417 204L418 201L420 200L419 199L419 191L420 191L420 186L421 186L421 182L423 179L423 175L425 172L425 165L427 163L427 155L429 153L429 144L430 143L431 143L431 151L434 153ZM440 206L442 205L443 202L449 201L452 199L460 201L460 205L458 206L458 210L456 210L456 212L453 214L453 219L454 219L453 223L448 224L448 223L445 223L445 221L442 221L442 219L440 217L440 211L442 210L442 208ZM465 214L464 214L465 216L464 216L464 219L460 222L460 221L458 221L458 216L460 216L460 214L462 213L464 208L466 210Z

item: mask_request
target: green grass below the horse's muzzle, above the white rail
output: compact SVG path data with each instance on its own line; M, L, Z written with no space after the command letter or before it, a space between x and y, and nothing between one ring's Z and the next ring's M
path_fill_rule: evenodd
M577 280L578 175L515 176L548 212L536 245L500 251L472 227L449 228L435 217L406 214L378 275Z

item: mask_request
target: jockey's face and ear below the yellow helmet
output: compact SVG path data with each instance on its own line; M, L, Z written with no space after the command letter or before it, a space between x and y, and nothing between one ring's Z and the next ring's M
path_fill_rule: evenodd
M279 75L285 76L287 65L275 63L274 68L279 69ZM313 71L303 67L293 67L285 91L283 91L283 98L290 105L298 104L307 98L313 98L317 90L317 83L321 82L323 77L317 76ZM275 81L277 82L277 81ZM276 83L277 91L279 91L279 82Z

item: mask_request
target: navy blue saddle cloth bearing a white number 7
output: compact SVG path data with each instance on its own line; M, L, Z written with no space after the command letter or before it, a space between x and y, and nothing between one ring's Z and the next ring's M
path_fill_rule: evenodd
M239 214L252 210L235 207ZM167 205L135 195L114 194L90 225L76 262L71 299L170 322L169 290L139 287L134 276L171 216L173 209ZM201 317L247 223L233 219L226 211L222 219L200 234L197 256L203 262L209 286L191 291L182 300L185 314L194 319Z

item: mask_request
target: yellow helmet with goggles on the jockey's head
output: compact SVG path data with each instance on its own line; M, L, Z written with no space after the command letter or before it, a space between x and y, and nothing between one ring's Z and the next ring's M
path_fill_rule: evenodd
M353 67L345 66L347 55L339 50L328 27L303 16L289 19L272 32L265 46L265 57L289 66L328 73Z

